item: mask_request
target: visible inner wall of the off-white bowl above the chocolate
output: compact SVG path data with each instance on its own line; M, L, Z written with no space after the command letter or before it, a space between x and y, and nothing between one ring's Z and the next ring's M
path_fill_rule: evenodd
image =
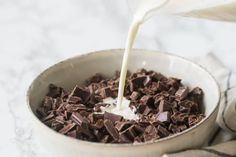
M71 90L76 84L83 84L95 73L102 73L107 77L120 70L123 49L105 50L74 57L60 62L43 73L32 83L28 101L31 110L35 110L48 92L50 83ZM140 68L161 72L166 76L178 77L189 87L199 86L204 91L204 107L206 117L217 107L219 89L213 77L200 66L174 55L148 50L133 50L129 70Z

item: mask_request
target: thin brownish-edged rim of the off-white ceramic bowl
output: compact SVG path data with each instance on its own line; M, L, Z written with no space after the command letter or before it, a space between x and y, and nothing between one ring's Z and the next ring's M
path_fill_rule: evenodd
M122 52L124 52L123 48L118 48L118 49L96 50L96 51L92 51L92 52L87 52L87 53L83 53L83 54L80 54L80 55L76 55L76 56L73 56L73 57L69 57L69 58L66 58L64 60L59 61L58 63L55 63L55 64L49 66L48 68L46 68L45 70L40 72L40 74L37 75L33 79L33 81L31 82L31 84L30 84L30 86L29 86L29 88L27 90L27 94L26 94L27 109L30 112L30 115L33 117L34 122L38 123L40 126L45 128L46 130L48 130L48 132L50 132L52 134L56 133L60 137L62 137L64 139L67 139L67 140L71 140L71 141L74 141L74 142L79 142L81 144L90 145L90 146L101 146L101 147L105 146L105 147L116 147L116 148L119 147L120 148L120 147L135 147L135 146L152 145L152 144L155 144L155 143L161 143L161 142L164 142L164 141L168 141L168 140L177 138L177 137L179 137L181 135L184 135L185 133L190 132L192 130L195 130L199 126L205 124L207 121L209 121L209 119L213 116L213 114L215 114L217 112L217 110L219 108L219 104L220 104L220 97L221 97L220 87L219 87L219 84L216 81L215 77L205 67L203 67L202 65L200 65L198 63L193 62L190 59L187 59L187 58L184 58L182 56L178 56L178 55L175 55L175 54L172 54L172 53L169 53L169 52L165 52L165 51L149 50L149 49L139 49L139 48L138 49L134 48L134 49L132 49L132 51L146 51L147 53L156 53L156 54L170 56L172 58L178 58L178 59L183 60L185 62L188 62L188 63L192 64L193 66L195 66L195 67L203 70L204 72L206 72L209 75L209 77L214 81L215 87L217 88L217 95L218 95L217 104L213 108L212 112L210 112L208 116L204 117L204 119L201 120L199 123L197 123L196 125L192 126L191 128L188 128L188 129L186 129L186 130L184 130L182 132L179 132L179 133L176 133L176 134L173 134L171 136L164 137L164 138L161 138L161 139L157 139L155 141L148 141L148 142L142 142L142 143L128 143L128 144L127 143L125 143L125 144L100 143L100 142L91 142L91 141L85 141L85 140L80 140L80 139L72 138L72 137L63 135L63 134L61 134L61 133L51 129L50 127L46 126L43 122L41 122L39 120L39 118L32 111L32 108L31 108L31 105L30 105L30 99L29 99L31 89L33 88L33 85L37 81L38 78L42 77L50 69L52 69L52 68L54 68L54 67L56 67L56 66L58 66L60 64L64 64L64 62L69 62L70 60L73 60L73 59L76 59L76 58L82 58L82 57L87 57L87 56L90 56L90 55L96 55L97 53L122 53Z

